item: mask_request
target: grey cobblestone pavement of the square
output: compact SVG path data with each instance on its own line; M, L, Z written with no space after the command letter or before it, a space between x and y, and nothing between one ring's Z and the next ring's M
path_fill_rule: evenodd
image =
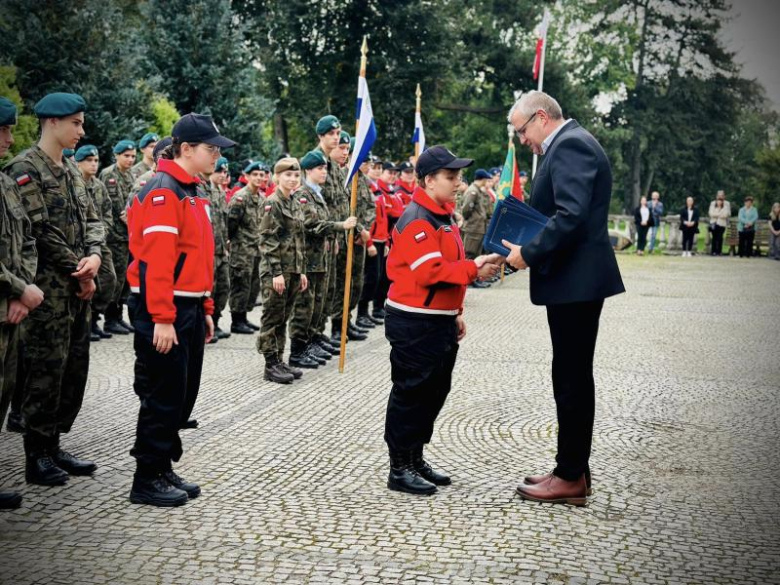
M127 500L137 399L129 338L96 344L64 443L94 478L24 487L0 434L0 581L91 583L780 583L780 262L620 258L608 300L587 508L523 502L555 446L545 313L525 274L469 291L469 334L429 449L454 484L389 492L380 331L292 386L263 381L253 338L209 346L178 467L203 495ZM259 319L259 310L253 314Z

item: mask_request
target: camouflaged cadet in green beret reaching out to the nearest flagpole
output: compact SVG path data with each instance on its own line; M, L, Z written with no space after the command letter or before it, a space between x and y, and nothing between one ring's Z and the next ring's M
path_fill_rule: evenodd
M331 218L328 206L322 196L322 185L328 178L328 161L319 150L308 152L301 159L301 168L306 173L301 188L295 197L303 207L306 230L306 277L308 288L298 295L290 321L290 338L303 339L307 344L306 352L315 359L329 360L339 350L321 335L318 329L323 318L327 318L327 294L330 263L335 246L336 234L354 227L356 219L349 217L345 221ZM290 356L292 361L293 356ZM322 361L320 361L322 365Z

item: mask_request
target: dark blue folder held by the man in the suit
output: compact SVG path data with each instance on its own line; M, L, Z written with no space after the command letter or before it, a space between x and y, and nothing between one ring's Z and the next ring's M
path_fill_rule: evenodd
M547 225L547 217L515 197L502 199L493 211L483 246L489 252L509 255L501 240L525 246Z

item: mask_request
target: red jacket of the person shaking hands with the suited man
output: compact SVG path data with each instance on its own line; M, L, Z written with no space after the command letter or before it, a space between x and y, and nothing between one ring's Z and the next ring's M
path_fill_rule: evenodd
M393 230L387 257L392 281L387 305L429 315L458 315L466 286L477 278L477 265L466 260L453 207L437 205L422 189Z

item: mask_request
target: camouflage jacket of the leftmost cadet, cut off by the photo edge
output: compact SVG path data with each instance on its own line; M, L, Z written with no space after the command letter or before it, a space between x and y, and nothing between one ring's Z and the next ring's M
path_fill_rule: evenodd
M0 173L0 323L8 315L8 301L22 296L35 280L38 253L30 220L24 212L16 183Z

